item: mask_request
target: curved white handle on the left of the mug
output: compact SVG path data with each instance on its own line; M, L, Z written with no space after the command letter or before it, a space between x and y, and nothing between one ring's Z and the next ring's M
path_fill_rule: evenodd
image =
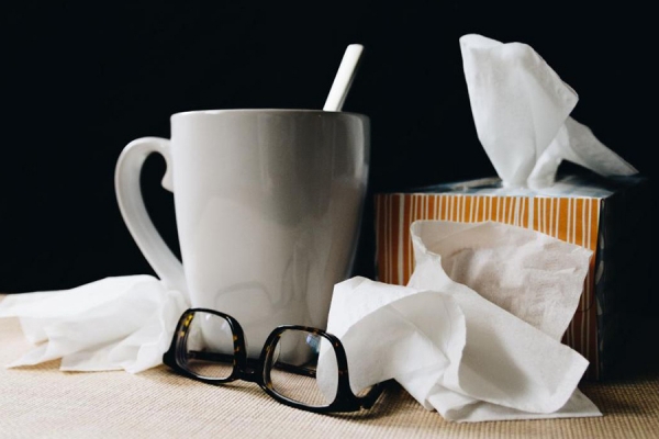
M167 169L163 188L174 192L171 181L170 142L160 137L142 137L127 144L116 161L114 191L119 210L137 247L168 289L187 293L183 266L156 230L142 198L139 173L144 160L152 153L165 158Z

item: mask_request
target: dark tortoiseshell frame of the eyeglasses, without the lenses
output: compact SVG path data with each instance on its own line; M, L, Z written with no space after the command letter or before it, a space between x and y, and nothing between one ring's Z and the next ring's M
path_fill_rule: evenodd
M192 322L196 313L210 313L224 318L228 323L228 326L233 333L234 354L233 370L226 378L215 379L201 376L188 370L185 365L187 360L186 339L188 336L188 329L190 328L190 323ZM286 330L302 330L311 333L313 335L324 337L331 342L331 346L334 348L334 352L336 354L336 363L338 367L338 384L336 389L336 396L332 403L324 406L306 405L279 394L272 386L272 380L270 379L270 368L273 362L272 356L279 337ZM220 353L216 356L224 357L226 360L226 356ZM176 327L176 331L174 333L174 337L171 338L169 350L163 356L163 362L181 375L202 381L208 384L222 384L236 380L253 382L258 384L264 391L266 391L268 395L282 404L315 413L357 412L361 408L370 408L376 403L383 389L383 383L379 383L373 385L364 396L357 396L353 393L348 375L348 360L346 358L346 351L340 340L330 333L309 326L278 326L266 339L261 353L258 360L256 360L247 357L245 334L238 320L228 314L208 308L190 308L181 315ZM281 364L278 364L278 367ZM315 376L315 371L311 369L288 365L287 370L301 375Z

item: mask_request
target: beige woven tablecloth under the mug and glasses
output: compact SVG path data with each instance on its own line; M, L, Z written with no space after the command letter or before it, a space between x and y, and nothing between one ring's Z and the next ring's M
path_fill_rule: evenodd
M30 349L16 319L0 319L0 365ZM395 386L370 410L317 415L256 384L212 386L165 367L135 375L62 372L58 361L0 367L0 438L659 438L656 359L630 358L632 379L582 383L603 417L480 424L446 421Z

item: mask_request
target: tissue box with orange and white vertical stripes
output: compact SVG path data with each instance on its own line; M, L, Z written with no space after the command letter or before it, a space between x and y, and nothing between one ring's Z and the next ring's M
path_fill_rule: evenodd
M589 361L590 380L619 370L635 309L649 303L651 189L643 176L561 176L541 191L503 188L499 178L376 193L376 273L406 284L414 270L416 219L496 221L533 228L594 255L563 342Z

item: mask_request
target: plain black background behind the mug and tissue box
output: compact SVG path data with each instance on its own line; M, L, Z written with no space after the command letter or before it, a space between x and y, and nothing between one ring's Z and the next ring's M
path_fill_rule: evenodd
M572 116L657 175L655 14L632 2L203 4L0 7L0 291L153 273L116 206L122 148L168 137L180 111L321 109L351 43L365 53L344 110L371 119L370 194L494 175L469 108L467 33L529 44L578 92ZM178 252L163 171L149 158L143 190ZM355 268L367 277L371 207Z

